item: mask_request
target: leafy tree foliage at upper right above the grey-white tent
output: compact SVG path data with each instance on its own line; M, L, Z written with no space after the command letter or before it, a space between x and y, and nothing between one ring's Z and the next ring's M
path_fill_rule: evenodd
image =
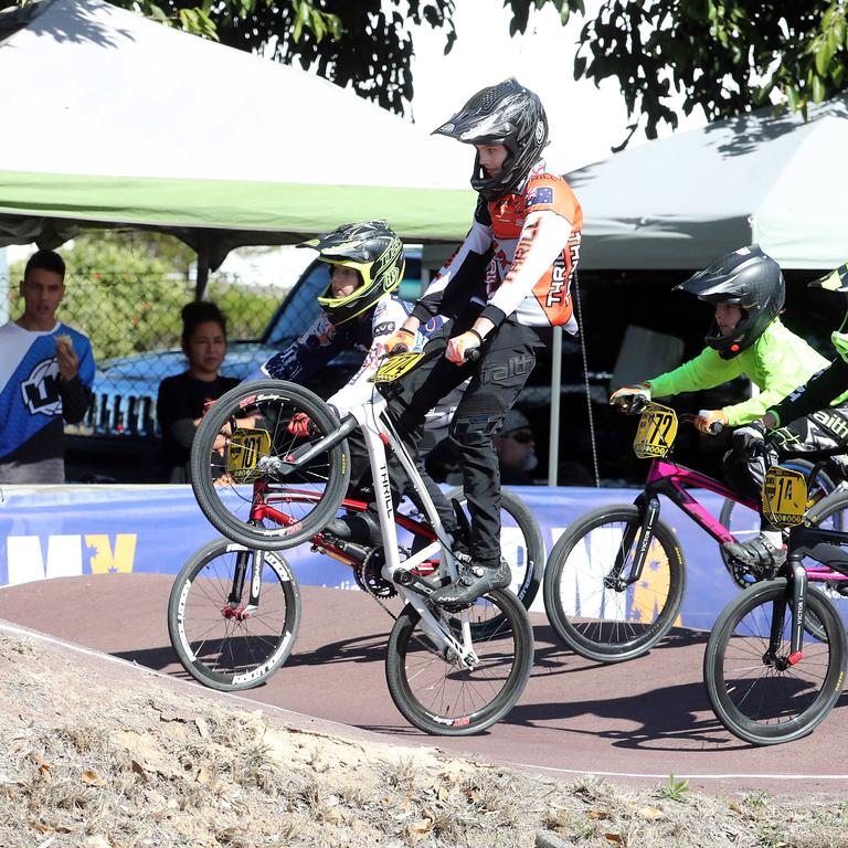
M630 134L689 115L774 104L805 114L846 86L845 0L605 0L581 34L576 78L622 87Z

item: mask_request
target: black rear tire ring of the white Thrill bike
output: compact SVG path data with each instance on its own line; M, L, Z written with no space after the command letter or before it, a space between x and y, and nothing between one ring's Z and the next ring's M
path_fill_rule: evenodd
M385 679L389 692L401 714L415 728L434 735L467 736L480 733L500 721L515 707L524 691L533 667L533 629L527 610L512 592L495 590L485 595L509 619L513 634L516 660L505 687L491 702L468 716L436 716L412 693L406 679L404 660L410 638L420 615L407 604L392 627L385 654Z

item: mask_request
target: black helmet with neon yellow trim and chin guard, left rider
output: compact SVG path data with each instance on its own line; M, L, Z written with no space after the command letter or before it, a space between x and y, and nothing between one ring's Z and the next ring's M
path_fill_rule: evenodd
M333 297L330 284L325 296L318 298L335 325L371 309L384 294L394 292L403 278L403 244L385 221L342 224L298 247L312 247L321 262L353 268L362 278L362 285L347 297Z

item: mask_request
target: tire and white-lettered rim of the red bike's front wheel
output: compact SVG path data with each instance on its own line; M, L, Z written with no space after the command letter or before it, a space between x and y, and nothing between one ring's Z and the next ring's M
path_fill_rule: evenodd
M267 551L265 553L266 562L268 562L273 571L277 572L286 604L285 621L280 633L280 643L278 644L278 649L282 648L279 654L274 657L272 664L263 669L262 674L252 677L247 681L236 683L233 682L234 675L223 675L210 670L205 664L193 655L188 645L188 637L181 621L181 612L184 611L184 601L188 594L187 584L193 581L198 572L213 559L234 550L253 549L246 549L244 545L235 544L227 539L216 539L197 550L180 569L168 597L168 635L171 646L180 660L180 665L199 682L211 689L224 692L253 689L267 680L288 659L300 628L301 603L297 580L288 562L286 562L280 553Z

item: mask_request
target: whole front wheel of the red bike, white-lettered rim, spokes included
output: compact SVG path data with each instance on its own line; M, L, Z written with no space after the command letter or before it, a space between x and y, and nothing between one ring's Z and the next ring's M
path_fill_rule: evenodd
M288 658L299 625L300 592L283 556L224 539L189 559L168 601L168 633L182 667L222 691L267 680Z

